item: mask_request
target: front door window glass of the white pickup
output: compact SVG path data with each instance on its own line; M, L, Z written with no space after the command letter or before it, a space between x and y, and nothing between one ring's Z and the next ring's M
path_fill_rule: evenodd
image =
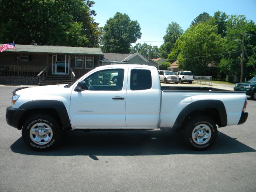
M86 90L122 90L124 69L108 69L95 72L85 78Z

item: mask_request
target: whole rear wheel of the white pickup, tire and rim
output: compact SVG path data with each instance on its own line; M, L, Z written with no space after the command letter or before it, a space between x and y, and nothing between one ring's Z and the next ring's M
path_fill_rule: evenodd
M184 142L194 150L205 150L215 142L216 123L206 116L192 116L182 126Z

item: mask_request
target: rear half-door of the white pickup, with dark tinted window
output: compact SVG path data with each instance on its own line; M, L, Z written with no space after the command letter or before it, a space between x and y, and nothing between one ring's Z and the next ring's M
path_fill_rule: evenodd
M156 128L160 113L159 74L151 68L128 70L126 94L127 128Z

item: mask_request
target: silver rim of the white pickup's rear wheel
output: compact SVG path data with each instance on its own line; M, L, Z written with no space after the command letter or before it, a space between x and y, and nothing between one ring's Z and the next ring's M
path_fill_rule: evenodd
M206 144L212 136L210 127L206 124L200 124L193 129L192 139L198 145Z

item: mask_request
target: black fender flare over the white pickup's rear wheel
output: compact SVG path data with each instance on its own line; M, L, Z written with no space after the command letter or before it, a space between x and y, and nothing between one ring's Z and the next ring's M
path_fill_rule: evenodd
M224 127L228 123L226 108L222 101L220 100L200 100L195 101L188 104L185 108L183 108L176 118L174 122L173 128L180 128L186 119L186 117L193 112L194 110L202 109L202 108L215 108L218 110L220 115L220 125L219 127Z

